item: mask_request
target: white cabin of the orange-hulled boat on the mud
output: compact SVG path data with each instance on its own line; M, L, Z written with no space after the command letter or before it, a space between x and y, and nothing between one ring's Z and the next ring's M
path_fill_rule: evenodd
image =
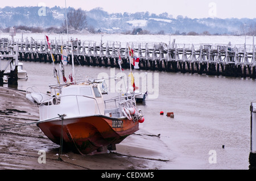
M40 120L59 115L80 117L104 115L104 100L97 84L64 86L61 94L44 100L40 106Z

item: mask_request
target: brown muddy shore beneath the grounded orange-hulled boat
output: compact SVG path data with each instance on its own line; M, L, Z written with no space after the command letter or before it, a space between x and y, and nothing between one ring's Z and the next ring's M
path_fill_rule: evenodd
M0 169L2 170L158 170L169 162L157 150L145 148L148 143L163 144L159 137L148 136L143 130L117 145L107 154L80 155L63 152L38 127L39 108L29 102L26 92L0 87ZM146 140L146 142L145 142ZM142 142L143 141L143 142ZM46 163L39 163L40 150Z

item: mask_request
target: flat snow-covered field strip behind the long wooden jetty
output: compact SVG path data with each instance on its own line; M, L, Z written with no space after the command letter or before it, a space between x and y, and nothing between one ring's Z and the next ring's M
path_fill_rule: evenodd
M28 39L31 37L34 40L44 40L45 35L49 36L51 40L67 40L67 34L45 34L45 33L16 33L14 39ZM0 38L9 36L9 33L1 33ZM75 38L78 40L84 41L96 41L98 43L102 42L106 43L107 41L118 41L121 43L129 43L129 42L163 42L166 44L172 43L175 39L176 44L224 44L228 45L229 42L232 45L243 45L253 44L252 36L177 36L177 35L123 35L123 34L69 34L69 38Z

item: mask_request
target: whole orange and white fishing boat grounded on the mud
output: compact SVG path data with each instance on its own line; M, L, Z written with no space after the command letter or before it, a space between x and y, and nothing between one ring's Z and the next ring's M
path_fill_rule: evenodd
M138 131L144 117L134 96L125 99L118 92L117 97L104 100L102 81L68 78L60 82L58 75L57 84L49 86L50 95L32 87L26 94L28 100L38 104L40 120L36 125L49 140L82 155L98 154L115 150L116 144ZM115 77L119 78L122 76Z

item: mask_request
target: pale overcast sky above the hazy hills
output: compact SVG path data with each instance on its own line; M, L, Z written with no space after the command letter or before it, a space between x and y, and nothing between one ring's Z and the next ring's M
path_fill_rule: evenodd
M112 12L150 12L161 14L168 12L176 18L177 15L188 18L256 18L255 0L66 0L67 7L92 10L102 7L104 11ZM1 1L5 6L60 6L65 7L65 0L12 0Z

